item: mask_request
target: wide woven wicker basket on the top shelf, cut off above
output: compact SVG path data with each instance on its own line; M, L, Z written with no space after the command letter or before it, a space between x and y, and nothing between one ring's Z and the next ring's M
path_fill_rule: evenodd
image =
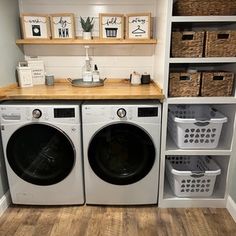
M209 16L236 15L235 0L177 0L174 4L174 15Z

